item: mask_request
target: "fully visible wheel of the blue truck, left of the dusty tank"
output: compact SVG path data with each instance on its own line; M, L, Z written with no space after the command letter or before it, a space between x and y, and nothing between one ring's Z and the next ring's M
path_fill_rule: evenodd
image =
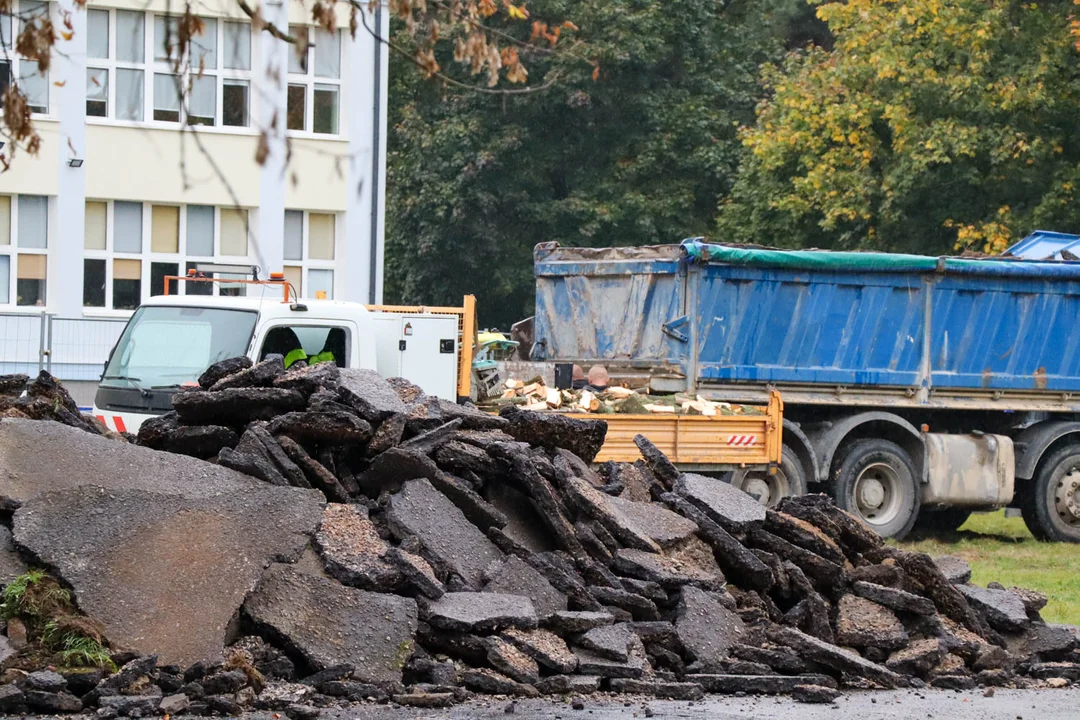
M915 463L890 440L854 440L841 452L833 483L836 504L882 538L901 539L919 516Z

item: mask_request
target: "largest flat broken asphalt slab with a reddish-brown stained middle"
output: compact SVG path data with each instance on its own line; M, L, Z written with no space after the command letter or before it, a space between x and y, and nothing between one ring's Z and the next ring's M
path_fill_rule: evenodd
M299 558L322 508L315 491L265 484L190 498L83 486L27 501L13 525L113 643L190 665L221 657L244 596L271 561Z

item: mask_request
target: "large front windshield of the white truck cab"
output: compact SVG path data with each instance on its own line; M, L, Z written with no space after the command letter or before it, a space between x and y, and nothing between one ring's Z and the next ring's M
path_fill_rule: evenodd
M102 384L152 390L194 382L214 363L247 354L257 318L248 310L144 305L120 336Z

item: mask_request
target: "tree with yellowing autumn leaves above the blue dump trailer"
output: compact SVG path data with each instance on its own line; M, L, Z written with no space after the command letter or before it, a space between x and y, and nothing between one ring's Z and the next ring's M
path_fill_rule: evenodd
M835 45L766 67L720 233L939 254L1080 229L1077 14L1072 0L819 4Z

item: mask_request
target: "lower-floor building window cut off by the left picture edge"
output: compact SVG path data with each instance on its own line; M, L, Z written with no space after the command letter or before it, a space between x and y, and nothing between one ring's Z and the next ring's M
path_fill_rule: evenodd
M0 304L48 301L49 199L0 195Z

